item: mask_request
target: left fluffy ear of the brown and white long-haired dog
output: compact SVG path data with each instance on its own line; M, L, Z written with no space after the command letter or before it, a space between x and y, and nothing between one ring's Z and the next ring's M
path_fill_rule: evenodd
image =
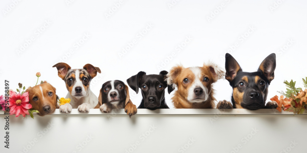
M178 84L178 82L176 81L176 77L180 74L181 70L184 67L182 65L177 65L172 67L172 69L169 71L169 73L166 75L167 77L167 91L170 94L174 89L176 84Z

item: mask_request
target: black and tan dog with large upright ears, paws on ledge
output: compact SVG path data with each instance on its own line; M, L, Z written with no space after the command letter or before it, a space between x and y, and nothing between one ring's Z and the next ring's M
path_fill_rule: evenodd
M225 55L226 80L233 89L232 106L226 100L220 101L217 108L246 108L257 110L260 108L277 108L276 102L268 102L266 98L268 87L274 79L276 55L270 54L260 64L256 72L243 72L239 63L230 54Z

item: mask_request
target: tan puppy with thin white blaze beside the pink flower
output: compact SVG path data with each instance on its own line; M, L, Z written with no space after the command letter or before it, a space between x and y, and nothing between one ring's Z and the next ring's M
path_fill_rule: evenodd
M56 88L44 81L34 87L29 87L26 92L29 92L29 103L32 108L38 110L39 116L45 116L54 113L60 105L57 103Z

